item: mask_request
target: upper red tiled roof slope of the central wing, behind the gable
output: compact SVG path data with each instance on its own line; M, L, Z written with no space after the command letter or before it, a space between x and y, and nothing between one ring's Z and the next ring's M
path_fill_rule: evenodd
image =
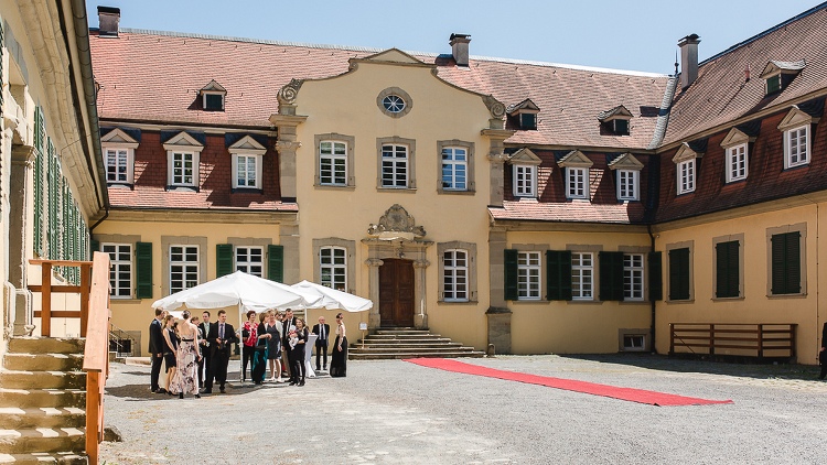
M93 34L90 44L103 120L258 127L270 126L276 94L291 78L337 75L347 71L348 58L377 52L130 30L117 39ZM526 98L537 104L538 129L518 131L507 141L514 144L646 148L656 123L651 108L659 106L667 82L662 75L500 58L472 57L468 68L443 56L417 58L439 63L441 78L506 106ZM227 89L225 111L198 109L198 89L211 79ZM601 134L598 115L619 105L634 115L631 134Z

